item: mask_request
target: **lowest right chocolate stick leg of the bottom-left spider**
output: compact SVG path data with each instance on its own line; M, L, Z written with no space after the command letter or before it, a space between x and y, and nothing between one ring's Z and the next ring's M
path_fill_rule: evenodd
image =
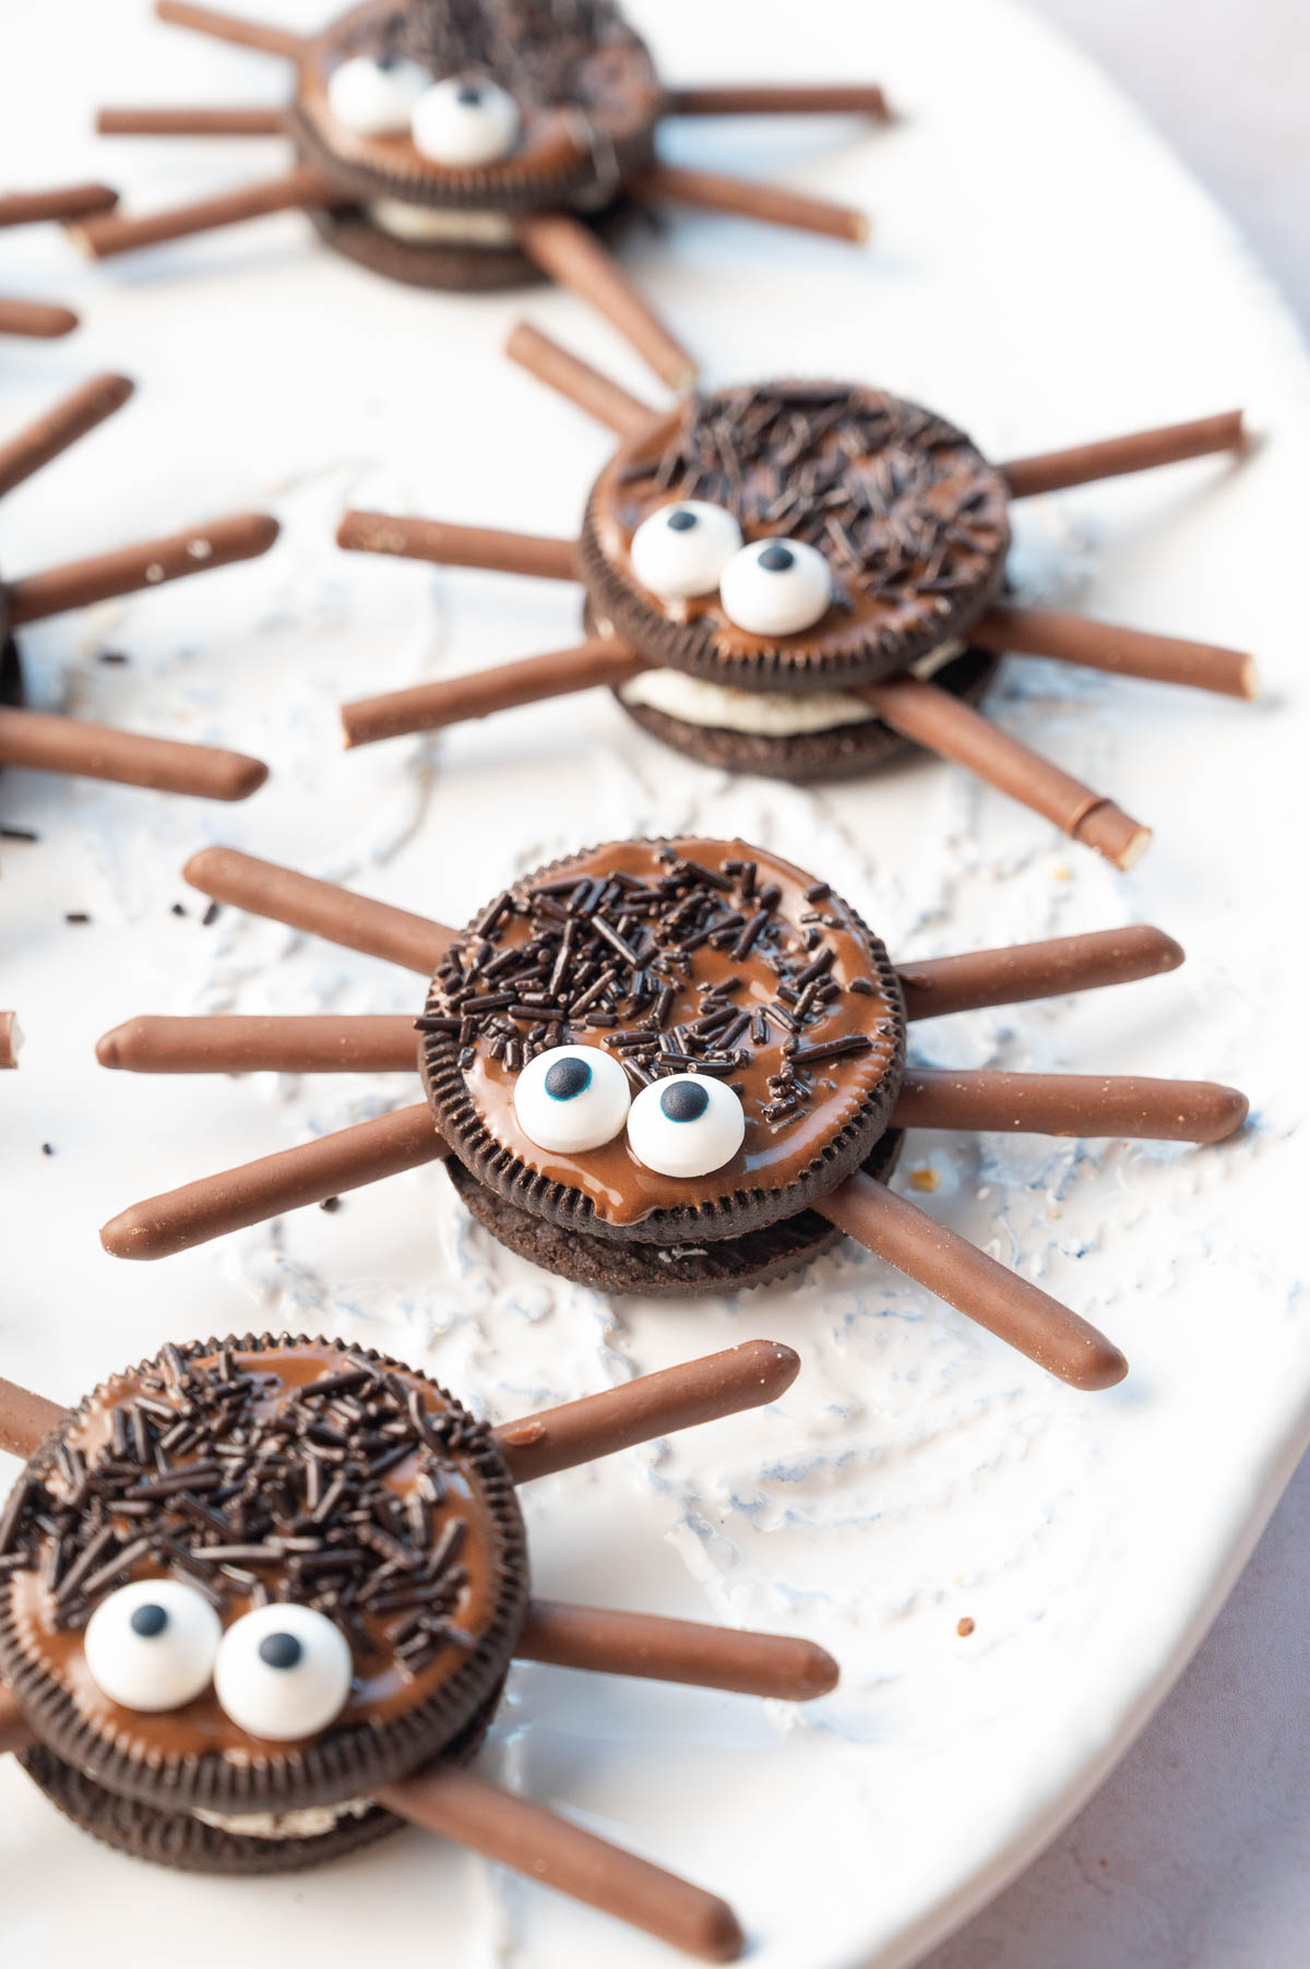
M609 1839L597 1839L546 1806L475 1778L471 1770L437 1764L372 1796L412 1825L644 1928L689 1955L723 1963L735 1961L745 1947L737 1916L717 1894L624 1853Z

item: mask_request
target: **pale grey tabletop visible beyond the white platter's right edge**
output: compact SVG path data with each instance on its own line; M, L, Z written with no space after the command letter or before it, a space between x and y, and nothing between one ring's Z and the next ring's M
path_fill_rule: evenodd
M1030 4L1137 100L1310 321L1310 0ZM922 1969L1304 1969L1308 1609L1310 1459L1111 1780Z

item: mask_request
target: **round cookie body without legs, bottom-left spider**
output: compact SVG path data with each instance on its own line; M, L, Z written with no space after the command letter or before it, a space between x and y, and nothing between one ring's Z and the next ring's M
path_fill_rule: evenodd
M282 1871L471 1756L528 1605L491 1431L337 1341L165 1347L91 1394L4 1510L0 1678L35 1782L126 1851Z

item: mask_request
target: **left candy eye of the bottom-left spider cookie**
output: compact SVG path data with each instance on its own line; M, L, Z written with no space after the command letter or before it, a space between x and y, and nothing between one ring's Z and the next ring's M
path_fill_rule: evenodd
M223 1624L179 1579L134 1579L100 1601L83 1656L97 1689L124 1709L181 1709L209 1687Z

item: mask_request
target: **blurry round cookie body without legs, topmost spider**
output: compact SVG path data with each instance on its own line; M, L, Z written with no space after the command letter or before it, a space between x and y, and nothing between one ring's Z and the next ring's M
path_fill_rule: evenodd
M540 280L514 221L626 217L664 91L611 0L368 0L313 37L288 128L353 203L315 211L349 258L429 287Z

